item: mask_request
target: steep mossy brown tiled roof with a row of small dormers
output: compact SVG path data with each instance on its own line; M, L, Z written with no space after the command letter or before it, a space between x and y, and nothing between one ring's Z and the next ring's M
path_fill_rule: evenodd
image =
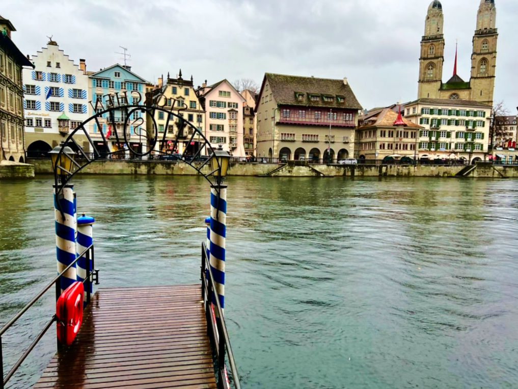
M356 100L351 87L345 85L343 80L333 80L328 78L289 76L284 74L266 73L271 92L277 104L290 104L301 106L316 106L328 108L350 108L362 109ZM264 82L263 82L264 88ZM263 92L263 90L261 90ZM298 100L295 93L304 93L303 100ZM310 100L309 96L332 96L333 101ZM343 97L344 102L338 102L337 96Z

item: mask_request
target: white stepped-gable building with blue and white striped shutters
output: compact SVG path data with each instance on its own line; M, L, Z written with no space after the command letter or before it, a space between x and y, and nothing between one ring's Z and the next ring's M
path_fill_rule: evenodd
M75 64L53 40L31 62L34 70L23 70L25 147L29 157L38 157L88 119L89 84L84 60ZM59 126L59 117L68 122L61 120ZM91 151L86 136L74 138L85 151Z

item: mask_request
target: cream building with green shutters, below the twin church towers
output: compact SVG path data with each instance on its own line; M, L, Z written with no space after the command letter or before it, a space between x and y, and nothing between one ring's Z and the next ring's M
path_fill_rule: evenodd
M405 105L405 118L424 127L420 159L485 161L492 107L469 100L419 99Z

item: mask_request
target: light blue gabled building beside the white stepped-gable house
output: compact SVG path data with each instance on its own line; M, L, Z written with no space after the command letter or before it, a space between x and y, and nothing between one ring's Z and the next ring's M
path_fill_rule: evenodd
M144 105L146 95L147 81L142 77L136 75L131 71L130 66L123 66L115 64L95 73L89 73L89 96L92 104L89 104L90 116L95 114L95 111L102 112L110 106L136 104ZM138 92L138 93L137 93ZM126 114L130 117L127 118ZM128 143L131 149L138 152L145 152L147 150L146 137L146 115L141 112L131 110L117 110L114 112L113 118L109 118L108 114L103 114L98 120L90 122L90 136L94 142L95 147L101 154L107 154L125 148L128 146L124 144L124 126L126 123L126 133ZM113 123L117 127L119 134L119 142L114 136ZM108 140L108 149L105 148L101 131ZM122 158L122 154L126 157L131 157L129 151L113 156L113 158Z

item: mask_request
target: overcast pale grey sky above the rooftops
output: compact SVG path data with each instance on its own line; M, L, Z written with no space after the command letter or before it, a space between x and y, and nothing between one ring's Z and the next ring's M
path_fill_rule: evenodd
M35 54L52 35L89 70L122 63L156 82L181 67L195 85L265 72L348 77L365 108L416 99L420 40L428 0L3 0L13 40ZM446 39L443 81L469 80L471 39L480 0L442 0ZM518 105L518 1L496 0L499 32L495 102Z

